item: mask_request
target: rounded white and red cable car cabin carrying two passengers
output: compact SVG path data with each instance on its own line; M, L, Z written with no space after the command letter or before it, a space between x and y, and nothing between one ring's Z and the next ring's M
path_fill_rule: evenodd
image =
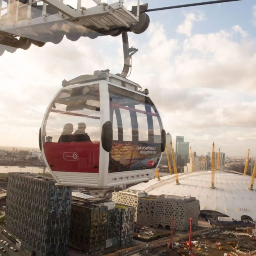
M147 90L109 70L62 86L39 138L57 184L112 187L149 180L165 149L165 130Z

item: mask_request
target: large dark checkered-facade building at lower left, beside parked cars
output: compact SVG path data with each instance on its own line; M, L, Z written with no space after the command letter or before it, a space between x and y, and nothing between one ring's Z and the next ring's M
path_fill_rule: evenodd
M9 173L5 230L26 255L67 256L71 187L28 173Z

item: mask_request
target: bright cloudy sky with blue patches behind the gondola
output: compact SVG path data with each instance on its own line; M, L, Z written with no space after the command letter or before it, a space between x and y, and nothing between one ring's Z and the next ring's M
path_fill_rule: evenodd
M192 2L202 1L147 1L149 8ZM136 3L124 0L127 9ZM89 8L93 1L82 4ZM139 49L129 79L149 89L173 142L184 136L198 155L210 152L214 141L227 156L246 156L248 148L256 156L256 1L148 14L149 28L129 33L129 45ZM0 145L37 147L43 115L63 79L104 69L116 74L122 66L121 36L64 38L5 52Z

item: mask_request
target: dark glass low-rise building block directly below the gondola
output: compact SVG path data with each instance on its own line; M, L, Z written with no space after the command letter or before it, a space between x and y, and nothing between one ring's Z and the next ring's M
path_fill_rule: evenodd
M69 244L85 253L132 244L134 213L134 207L73 192Z

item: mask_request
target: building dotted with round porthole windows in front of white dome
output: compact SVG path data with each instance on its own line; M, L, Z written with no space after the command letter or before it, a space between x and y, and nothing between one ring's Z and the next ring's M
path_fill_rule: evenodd
M193 226L198 225L200 203L195 197L152 196L144 191L128 189L113 192L112 199L117 204L132 204L132 206L136 202L136 224L141 226L170 229L172 216L177 231L187 231L190 218L193 220Z

